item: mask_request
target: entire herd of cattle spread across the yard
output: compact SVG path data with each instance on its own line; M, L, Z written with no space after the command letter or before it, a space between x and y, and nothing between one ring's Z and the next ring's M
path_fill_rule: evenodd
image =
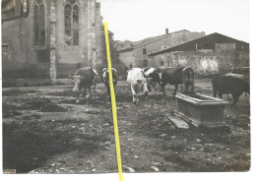
M169 84L175 86L175 95L178 85L182 84L182 70L185 67L163 67L159 68L131 68L127 71L127 83L131 87L133 94L133 103L139 102L139 97L143 92L146 96L149 91L153 88L155 93L157 88L160 87L163 95L165 95L164 87ZM114 89L117 84L117 71L112 68L112 81ZM77 93L77 101L79 102L79 94L82 89L86 91L87 97L91 96L91 88L96 88L97 78L100 77L101 82L104 84L107 92L107 98L110 96L110 85L109 85L109 72L107 68L104 68L100 75L97 74L96 70L91 67L80 68L76 71L75 75L72 76L74 82L73 91ZM238 97L243 93L250 93L249 82L245 76L239 74L224 74L213 78L213 95L217 96L217 93L221 98L223 94L230 93L233 98L231 106L236 107Z

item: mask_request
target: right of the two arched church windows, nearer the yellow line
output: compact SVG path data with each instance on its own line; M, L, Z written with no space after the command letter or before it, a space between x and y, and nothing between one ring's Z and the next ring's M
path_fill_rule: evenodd
M65 43L79 45L79 4L77 0L67 0L64 8Z

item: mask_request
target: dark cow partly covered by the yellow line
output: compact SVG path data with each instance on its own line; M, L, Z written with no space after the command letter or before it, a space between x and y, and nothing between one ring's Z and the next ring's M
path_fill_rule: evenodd
M107 68L104 68L102 70L102 74L100 75L101 82L104 84L106 88L106 97L109 99L110 97L110 84L109 84L109 72ZM117 72L116 69L112 68L112 81L113 81L113 87L114 90L116 90L116 84L117 84Z

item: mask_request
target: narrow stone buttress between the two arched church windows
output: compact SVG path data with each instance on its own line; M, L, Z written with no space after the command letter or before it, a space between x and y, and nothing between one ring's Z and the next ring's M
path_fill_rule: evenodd
M57 58L56 58L56 2L50 0L50 79L56 81L57 78Z

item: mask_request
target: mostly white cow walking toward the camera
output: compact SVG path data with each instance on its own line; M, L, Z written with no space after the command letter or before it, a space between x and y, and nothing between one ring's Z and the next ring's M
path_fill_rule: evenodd
M146 77L141 68L132 68L127 74L127 83L131 86L133 93L133 103L138 104L142 91L146 96L149 95L147 84L150 79Z

